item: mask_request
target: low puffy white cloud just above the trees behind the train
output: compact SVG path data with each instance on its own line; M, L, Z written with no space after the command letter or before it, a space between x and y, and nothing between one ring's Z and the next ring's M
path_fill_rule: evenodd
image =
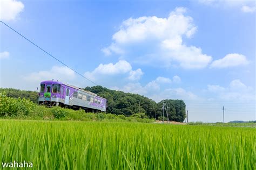
M117 63L108 63L103 65L102 63L95 68L92 72L84 73L84 76L90 80L98 80L102 76L115 76L128 74L127 79L136 81L143 75L142 69L132 70L132 66L125 60L119 60Z

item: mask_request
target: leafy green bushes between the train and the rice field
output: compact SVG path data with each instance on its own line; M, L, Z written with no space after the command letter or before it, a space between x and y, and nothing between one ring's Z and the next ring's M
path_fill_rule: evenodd
M62 120L62 121L131 121L149 123L145 113L134 114L127 119L124 115L113 115L99 112L86 113L84 110L72 110L60 107L46 108L36 105L25 98L7 97L0 93L0 117L35 120Z

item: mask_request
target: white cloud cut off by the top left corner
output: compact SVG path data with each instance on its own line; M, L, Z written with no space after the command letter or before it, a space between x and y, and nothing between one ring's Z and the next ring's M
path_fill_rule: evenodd
M24 4L16 0L1 0L0 20L15 20L24 9Z

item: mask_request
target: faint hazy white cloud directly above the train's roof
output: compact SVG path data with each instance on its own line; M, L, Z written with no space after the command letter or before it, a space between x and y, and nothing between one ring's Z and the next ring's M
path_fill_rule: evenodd
M75 79L76 74L66 66L53 66L49 71L39 71L24 76L23 79L30 82L40 82L43 80L70 81Z

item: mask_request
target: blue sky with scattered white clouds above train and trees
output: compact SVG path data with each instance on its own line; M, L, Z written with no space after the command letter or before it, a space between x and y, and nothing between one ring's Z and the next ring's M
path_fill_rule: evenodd
M1 1L1 20L97 84L182 99L190 121L255 120L253 1ZM0 24L1 87L93 86Z

